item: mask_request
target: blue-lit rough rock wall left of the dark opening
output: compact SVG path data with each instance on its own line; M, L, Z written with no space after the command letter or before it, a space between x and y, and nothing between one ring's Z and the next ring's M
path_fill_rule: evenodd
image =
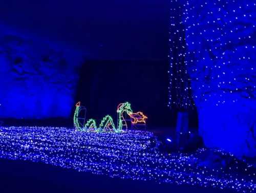
M0 26L0 117L68 117L80 63L75 50Z

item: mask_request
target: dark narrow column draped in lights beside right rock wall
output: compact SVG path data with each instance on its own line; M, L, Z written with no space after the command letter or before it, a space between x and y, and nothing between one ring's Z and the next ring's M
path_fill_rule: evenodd
M185 28L183 5L180 1L171 1L169 25L169 101L170 109L178 111L177 143L180 145L180 134L188 134L188 110L194 106L191 97L190 79L186 62Z

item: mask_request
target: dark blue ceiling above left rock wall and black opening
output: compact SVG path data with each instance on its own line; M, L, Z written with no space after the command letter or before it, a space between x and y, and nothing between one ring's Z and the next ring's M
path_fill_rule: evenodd
M80 48L93 59L164 59L167 0L2 0L0 22Z

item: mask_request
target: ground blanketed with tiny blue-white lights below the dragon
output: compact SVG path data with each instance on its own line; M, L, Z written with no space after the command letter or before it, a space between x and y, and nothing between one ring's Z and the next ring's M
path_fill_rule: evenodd
M214 149L164 153L160 145L153 133L142 131L115 134L77 132L66 127L0 127L0 158L46 163L115 179L240 192L256 188L255 168L230 154ZM222 158L221 164L205 159L209 151Z

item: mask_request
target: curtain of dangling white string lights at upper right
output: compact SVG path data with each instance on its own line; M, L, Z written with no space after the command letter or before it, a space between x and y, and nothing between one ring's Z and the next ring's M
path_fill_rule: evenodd
M256 3L170 2L168 105L193 105L189 92L198 105L210 102L219 106L240 98L255 99ZM191 86L184 84L186 80Z

